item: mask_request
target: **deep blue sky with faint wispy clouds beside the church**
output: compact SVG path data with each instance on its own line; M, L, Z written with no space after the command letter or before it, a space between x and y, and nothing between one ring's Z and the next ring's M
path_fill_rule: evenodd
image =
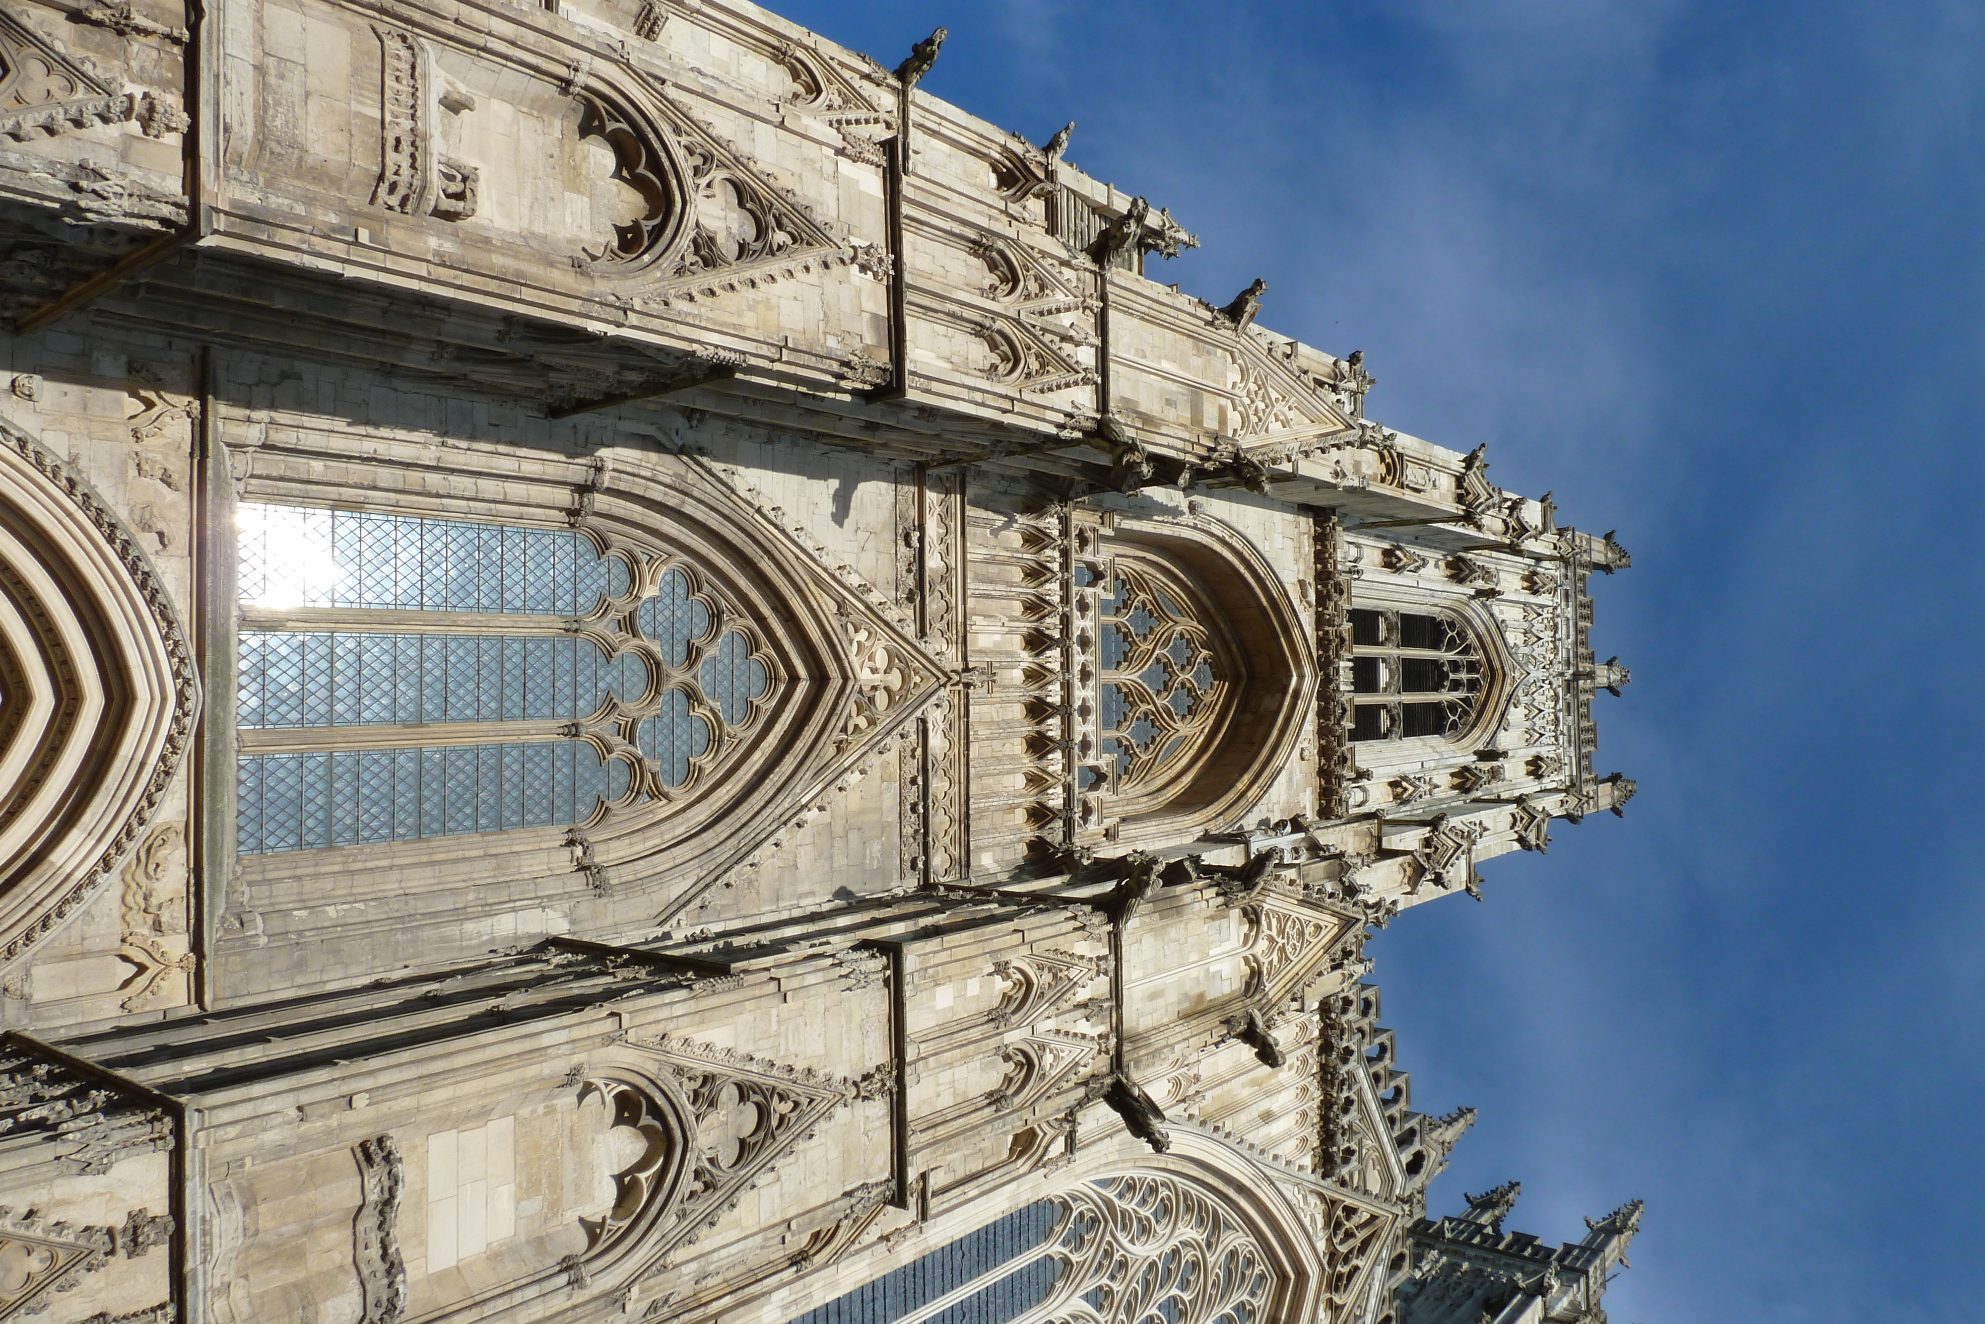
M1145 193L1163 280L1618 528L1626 822L1374 943L1435 1207L1648 1199L1618 1324L1985 1318L1985 6L969 0L782 14Z

